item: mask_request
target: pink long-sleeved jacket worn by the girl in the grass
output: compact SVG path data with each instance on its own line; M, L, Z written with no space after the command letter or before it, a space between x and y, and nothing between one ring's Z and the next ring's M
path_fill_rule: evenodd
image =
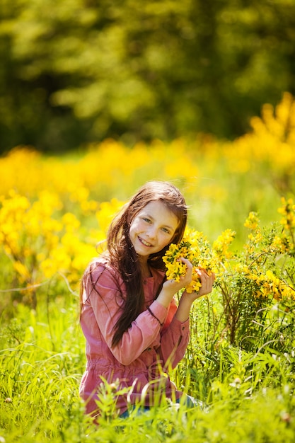
M120 414L142 398L145 405L153 405L161 392L174 401L180 398L183 393L176 389L167 372L185 354L189 320L181 323L175 318L174 300L168 309L154 300L163 272L151 269L152 277L144 280L145 309L123 334L120 343L112 347L113 328L124 303L125 285L105 258L98 258L91 269L96 291L89 277L84 277L81 311L87 364L80 395L86 402L86 412L93 415L98 412L96 400L104 380L117 383L117 392L128 388L114 398ZM148 306L156 318L147 310Z

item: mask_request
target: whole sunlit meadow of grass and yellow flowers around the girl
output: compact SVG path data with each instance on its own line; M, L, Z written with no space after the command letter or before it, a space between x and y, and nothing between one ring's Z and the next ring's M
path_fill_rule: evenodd
M0 443L294 442L294 98L265 105L251 127L232 142L106 139L1 157ZM97 427L78 392L79 282L112 215L152 179L183 191L187 241L217 276L172 374L204 408L163 403L122 420L106 385Z

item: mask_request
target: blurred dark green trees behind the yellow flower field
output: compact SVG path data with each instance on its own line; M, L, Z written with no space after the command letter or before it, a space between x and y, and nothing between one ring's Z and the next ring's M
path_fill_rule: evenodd
M295 93L295 0L1 0L0 151L233 138Z

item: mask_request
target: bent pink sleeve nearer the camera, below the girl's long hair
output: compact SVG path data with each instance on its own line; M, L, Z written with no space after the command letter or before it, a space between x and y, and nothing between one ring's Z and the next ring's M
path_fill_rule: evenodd
M96 290L91 291L90 282L86 284L86 292L90 294L88 303L91 304L105 343L114 357L127 366L156 340L161 328L159 321L165 321L167 309L154 301L150 309L156 318L149 311L142 312L122 335L120 343L112 347L113 328L122 313L122 288L115 275L103 266L93 270L92 281Z

